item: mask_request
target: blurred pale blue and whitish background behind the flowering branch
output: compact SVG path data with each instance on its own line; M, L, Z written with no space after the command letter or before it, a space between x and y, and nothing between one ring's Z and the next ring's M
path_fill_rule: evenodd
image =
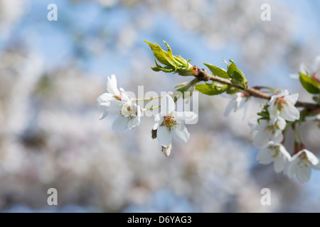
M58 21L47 19L51 3ZM271 21L260 19L264 3ZM244 119L225 118L228 99L199 94L198 123L170 157L151 139L153 118L117 134L96 107L111 74L128 91L159 94L191 79L152 72L143 40L166 40L198 67L233 59L250 86L310 101L289 74L320 54L319 11L311 0L0 0L0 211L319 212L320 172L301 184L257 163L247 120L262 100ZM302 130L319 157L319 128ZM265 187L270 206L260 203ZM58 206L48 206L49 188Z

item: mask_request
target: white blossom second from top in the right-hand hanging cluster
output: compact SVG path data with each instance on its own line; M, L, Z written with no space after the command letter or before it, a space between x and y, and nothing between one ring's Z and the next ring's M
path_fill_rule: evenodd
M253 145L255 145L256 148L262 148L270 141L273 143L282 142L282 131L286 126L286 121L284 121L284 118L278 116L274 125L270 125L267 120L260 120L260 123L258 123L257 118L252 118L249 121L249 126L251 127L251 133L258 131L255 138L253 138Z

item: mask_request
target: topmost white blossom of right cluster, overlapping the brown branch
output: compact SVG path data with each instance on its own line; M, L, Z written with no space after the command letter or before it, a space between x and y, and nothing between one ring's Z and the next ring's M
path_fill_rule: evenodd
M282 116L287 121L296 121L300 118L299 110L294 106L299 94L289 94L287 90L279 92L271 97L268 102L270 124L274 124L277 116Z

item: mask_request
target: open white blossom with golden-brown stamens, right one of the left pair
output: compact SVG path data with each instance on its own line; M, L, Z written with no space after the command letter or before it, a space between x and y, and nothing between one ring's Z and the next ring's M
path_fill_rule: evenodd
M184 123L192 121L197 115L191 111L176 112L176 105L171 96L161 98L161 112L154 118L154 130L160 145L168 147L172 138L179 142L186 143L190 137Z

